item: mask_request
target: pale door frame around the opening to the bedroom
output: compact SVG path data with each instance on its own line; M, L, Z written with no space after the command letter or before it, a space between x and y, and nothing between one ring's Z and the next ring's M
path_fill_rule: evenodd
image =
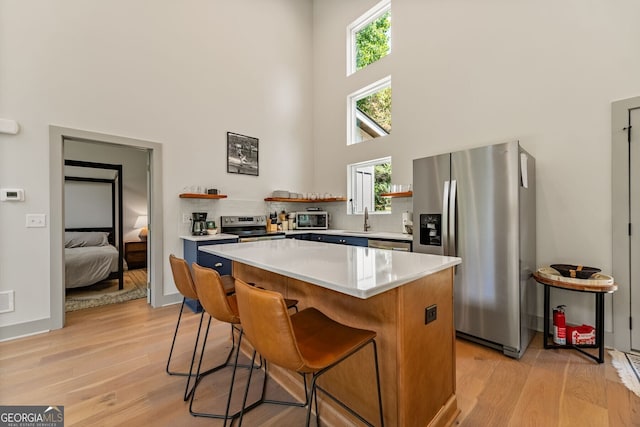
M162 145L79 129L49 126L49 190L50 190L50 329L59 329L65 321L64 289L64 141L68 139L116 144L146 149L149 153L149 263L151 305L159 307L173 302L163 292L163 209L162 209ZM158 224L157 227L154 227ZM167 300L167 301L165 301Z

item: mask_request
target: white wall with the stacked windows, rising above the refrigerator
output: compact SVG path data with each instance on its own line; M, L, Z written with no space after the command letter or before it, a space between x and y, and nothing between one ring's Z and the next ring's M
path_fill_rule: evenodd
M640 94L640 3L392 0L391 55L347 77L346 27L374 4L314 3L315 182L344 191L347 164L390 155L409 183L414 158L519 139L537 160L538 265L610 272L611 102ZM389 74L391 135L347 147L346 95ZM579 297L552 304L593 324Z

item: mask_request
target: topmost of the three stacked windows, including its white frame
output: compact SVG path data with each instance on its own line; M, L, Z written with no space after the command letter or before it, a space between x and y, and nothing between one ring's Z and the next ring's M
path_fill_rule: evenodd
M391 0L383 0L347 27L347 75L391 53Z

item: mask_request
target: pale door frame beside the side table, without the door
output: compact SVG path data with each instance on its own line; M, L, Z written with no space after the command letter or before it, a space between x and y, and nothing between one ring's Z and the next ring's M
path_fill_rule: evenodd
M629 248L629 111L640 108L640 96L611 103L611 225L612 274L618 284L613 293L613 346L631 350L631 260ZM640 129L637 130L640 132ZM638 230L640 224L635 226ZM636 324L640 319L636 319ZM636 326L638 327L638 326ZM640 344L640 343L638 343Z

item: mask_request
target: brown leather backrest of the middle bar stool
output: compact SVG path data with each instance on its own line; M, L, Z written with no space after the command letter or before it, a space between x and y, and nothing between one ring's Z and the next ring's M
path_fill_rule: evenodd
M235 295L227 296L220 274L213 268L191 264L200 304L214 319L226 323L240 323Z

